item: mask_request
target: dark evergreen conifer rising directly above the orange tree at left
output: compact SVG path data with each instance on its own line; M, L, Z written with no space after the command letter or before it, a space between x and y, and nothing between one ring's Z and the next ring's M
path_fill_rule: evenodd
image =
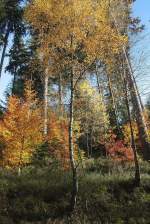
M34 41L27 43L21 35L15 35L6 70L13 75L12 94L22 96L24 82L32 80L39 98L43 98L42 66Z

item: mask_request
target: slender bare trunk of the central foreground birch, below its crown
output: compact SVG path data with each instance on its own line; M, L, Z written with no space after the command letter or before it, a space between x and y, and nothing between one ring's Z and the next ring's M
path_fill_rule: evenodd
M71 73L71 96L70 96L70 119L69 119L69 152L70 163L73 175L72 196L71 196L71 211L76 207L77 193L78 193L78 177L77 167L74 158L74 144L73 144L73 124L74 124L74 74Z

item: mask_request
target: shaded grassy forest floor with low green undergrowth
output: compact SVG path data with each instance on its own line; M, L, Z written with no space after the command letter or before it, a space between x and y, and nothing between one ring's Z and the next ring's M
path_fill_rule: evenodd
M87 160L79 168L77 208L68 214L71 174L27 167L21 176L1 170L0 224L150 224L150 165L141 162L141 185L133 164Z

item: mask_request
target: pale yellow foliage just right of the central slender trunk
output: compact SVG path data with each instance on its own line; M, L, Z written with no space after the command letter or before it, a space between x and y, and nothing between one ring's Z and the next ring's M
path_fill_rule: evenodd
M74 107L76 138L92 133L93 144L102 142L109 127L108 114L102 96L89 81L82 81L78 85Z

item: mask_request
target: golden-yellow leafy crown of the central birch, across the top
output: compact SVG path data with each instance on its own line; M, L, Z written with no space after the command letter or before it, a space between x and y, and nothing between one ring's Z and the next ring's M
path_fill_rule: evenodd
M107 62L109 52L119 53L126 42L126 37L119 35L109 21L106 0L33 0L25 17L39 33L45 63L50 57L54 60L60 48L67 52L65 63L75 65L78 60L70 60L68 55L75 55L80 45L86 54L84 63L96 58Z

